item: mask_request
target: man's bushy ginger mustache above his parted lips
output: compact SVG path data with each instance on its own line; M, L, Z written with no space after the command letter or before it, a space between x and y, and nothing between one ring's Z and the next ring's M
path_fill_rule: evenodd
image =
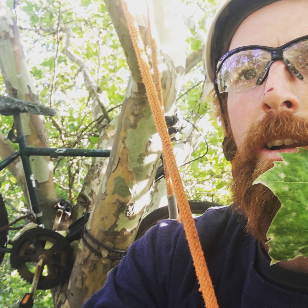
M268 141L286 138L298 139L308 144L307 120L290 111L268 112L249 128L239 151L253 155L256 148L265 146Z

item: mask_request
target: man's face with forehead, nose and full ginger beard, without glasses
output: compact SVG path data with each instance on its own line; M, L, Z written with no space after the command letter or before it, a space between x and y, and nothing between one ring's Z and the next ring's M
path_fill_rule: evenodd
M251 14L235 32L230 50L247 45L279 47L308 35L308 1L281 0ZM227 109L237 146L232 160L233 208L247 218L248 230L262 242L280 203L253 181L281 160L280 152L308 145L308 83L275 61L264 83L249 93L228 93ZM270 149L269 144L277 146Z

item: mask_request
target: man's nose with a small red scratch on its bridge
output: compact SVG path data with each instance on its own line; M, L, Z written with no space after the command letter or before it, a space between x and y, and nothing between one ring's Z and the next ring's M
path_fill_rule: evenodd
M276 113L284 110L297 112L299 99L294 84L298 81L282 61L272 63L264 81L262 109Z

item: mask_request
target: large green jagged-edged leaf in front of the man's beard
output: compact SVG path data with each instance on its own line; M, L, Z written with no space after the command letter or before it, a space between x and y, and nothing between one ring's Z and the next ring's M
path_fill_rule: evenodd
M266 234L271 264L308 256L308 151L298 150L281 153L282 161L253 182L270 188L281 202Z

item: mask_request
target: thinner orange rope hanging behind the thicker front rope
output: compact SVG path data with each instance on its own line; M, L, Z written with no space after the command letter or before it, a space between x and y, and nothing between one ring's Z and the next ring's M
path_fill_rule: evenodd
M151 2L152 4L152 2ZM150 3L149 0L147 0L147 8L148 8L148 29L149 29L149 35L151 40L151 52L152 52L152 63L153 63L153 70L154 70L154 84L157 92L157 97L160 102L160 106L162 110L164 110L164 103L163 103L163 87L161 86L161 80L160 80L160 73L158 69L158 59L157 59L157 46L155 39L152 35L152 26L151 24L154 24L154 16L151 14L153 12L153 7L151 6L150 10ZM165 179L166 179L166 188L167 188L167 195L171 196L173 195L173 186L172 181L168 172L166 159L164 157L163 153L163 162L164 162L164 172L165 172Z

